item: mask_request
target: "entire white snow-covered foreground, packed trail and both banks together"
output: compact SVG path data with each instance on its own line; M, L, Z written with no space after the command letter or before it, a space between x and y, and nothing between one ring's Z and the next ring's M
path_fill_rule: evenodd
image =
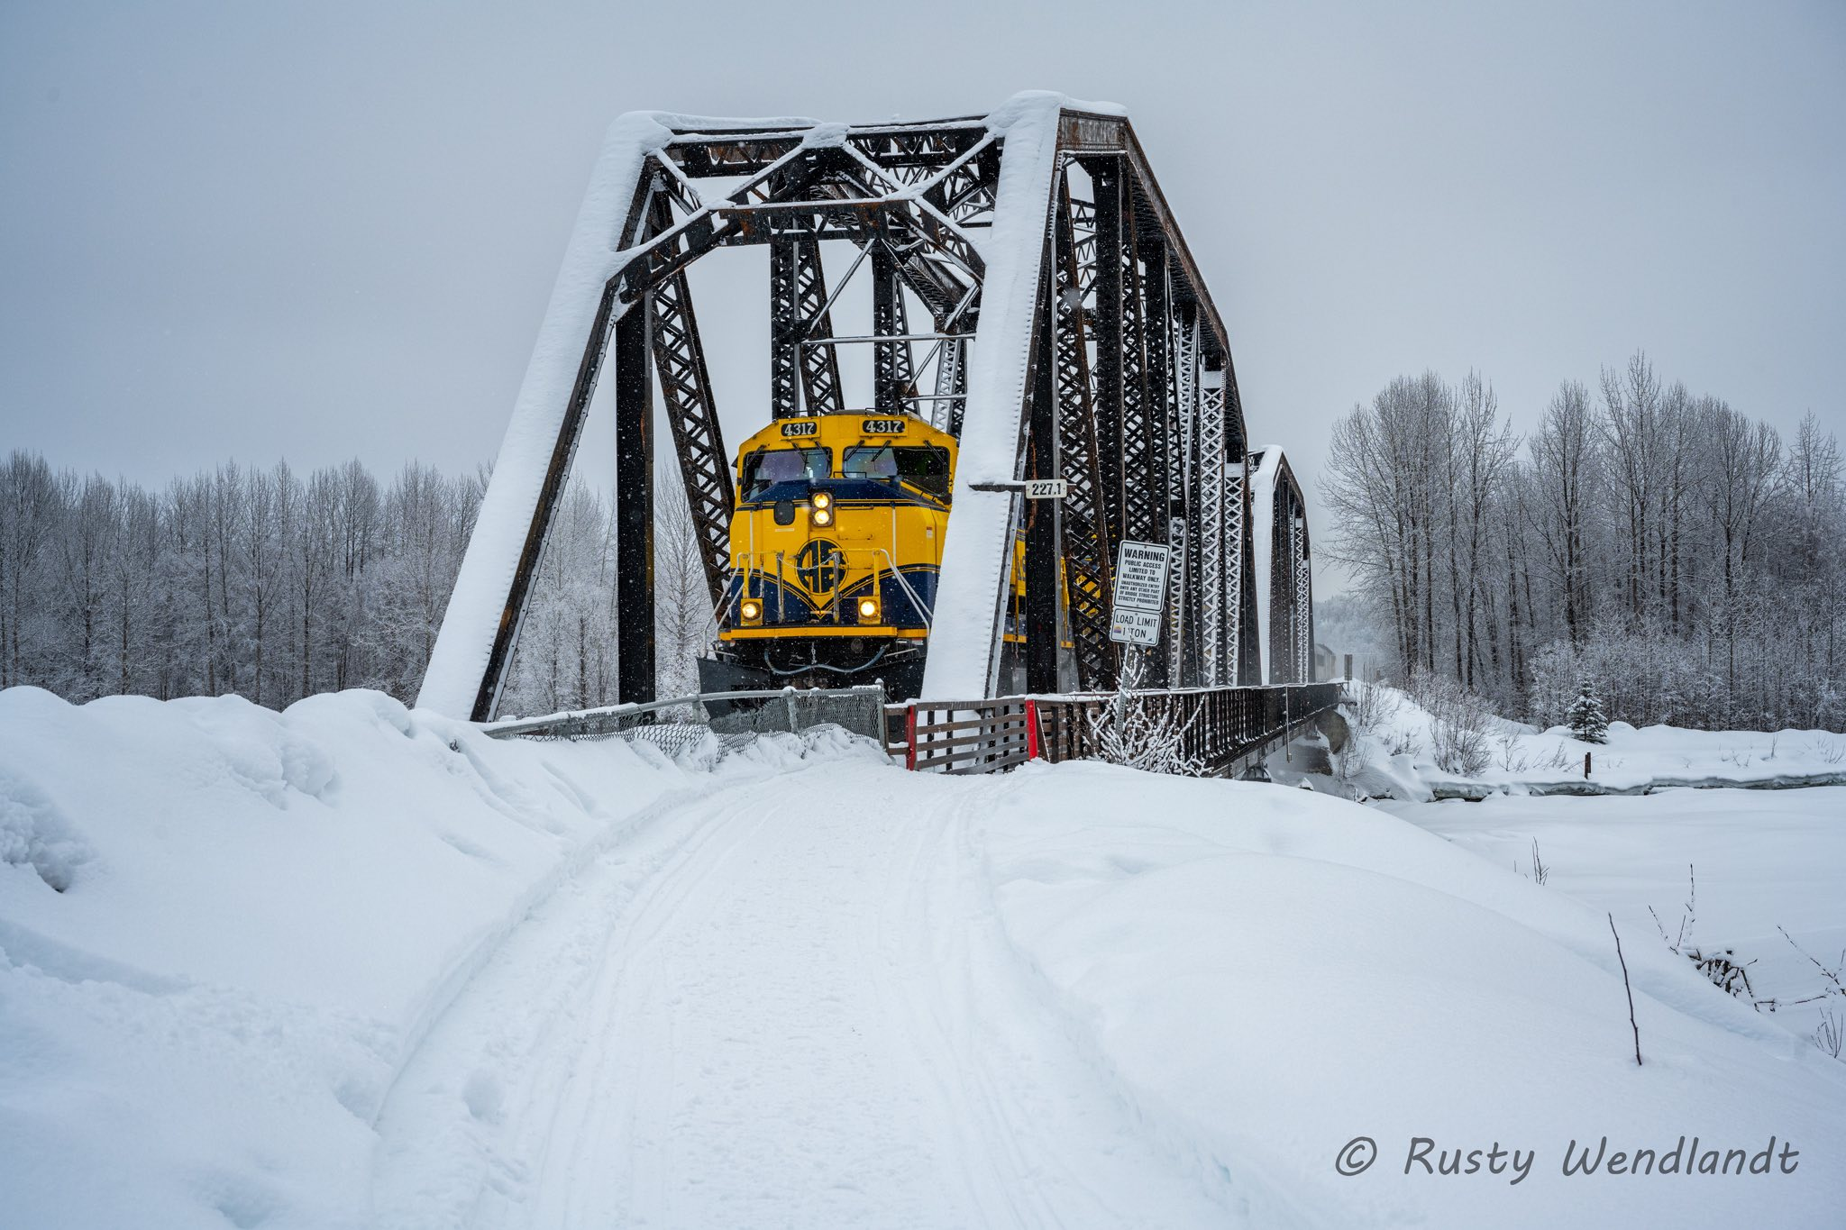
M1837 1224L1846 1066L1623 922L1637 1068L1562 835L713 752L0 693L0 1223ZM1774 1173L1562 1173L1682 1134Z

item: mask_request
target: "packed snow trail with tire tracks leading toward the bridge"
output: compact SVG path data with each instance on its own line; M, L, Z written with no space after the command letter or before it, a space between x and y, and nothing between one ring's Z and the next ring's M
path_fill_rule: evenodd
M1233 1221L1006 942L1006 789L827 763L600 857L406 1073L380 1224Z

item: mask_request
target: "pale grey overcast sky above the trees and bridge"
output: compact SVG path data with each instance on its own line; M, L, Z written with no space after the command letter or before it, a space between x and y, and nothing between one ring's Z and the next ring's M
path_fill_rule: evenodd
M1637 347L1783 430L1846 426L1839 0L0 0L0 448L142 481L471 468L613 116L1019 89L1130 109L1252 439L1303 478L1396 374L1475 367L1525 426ZM764 417L766 262L705 264L733 258L696 290L735 441ZM580 468L611 468L605 430Z

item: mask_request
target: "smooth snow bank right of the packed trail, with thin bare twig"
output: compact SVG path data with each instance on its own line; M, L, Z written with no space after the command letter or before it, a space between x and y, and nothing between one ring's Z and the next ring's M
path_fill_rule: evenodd
M1008 931L1146 1130L1228 1175L1252 1224L1837 1224L1846 1068L1652 931L1623 935L1637 1068L1608 922L1560 891L1309 791L1017 776L986 826ZM1562 1175L1573 1140L1682 1134L1752 1154L1774 1136L1798 1169ZM1348 1178L1359 1136L1377 1162ZM1407 1173L1418 1138L1536 1160L1517 1186Z

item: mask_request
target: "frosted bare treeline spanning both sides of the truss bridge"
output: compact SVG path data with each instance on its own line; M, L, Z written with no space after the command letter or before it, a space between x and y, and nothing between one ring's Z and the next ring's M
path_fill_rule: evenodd
M148 491L0 465L0 686L72 701L314 692L415 697L485 470L297 476L222 465ZM709 601L677 476L657 507L663 693L690 690ZM1469 374L1394 380L1335 428L1322 564L1359 581L1372 660L1447 675L1551 723L1588 675L1636 725L1846 725L1846 500L1837 439L1792 441L1645 356L1565 382L1528 439ZM563 500L502 712L615 699L609 502ZM1329 614L1333 614L1329 610ZM1364 645L1335 645L1364 649Z

